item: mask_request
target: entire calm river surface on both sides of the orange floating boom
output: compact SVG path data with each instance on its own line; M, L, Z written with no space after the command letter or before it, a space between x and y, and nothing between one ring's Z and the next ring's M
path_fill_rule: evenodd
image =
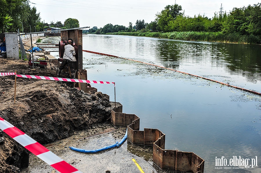
M83 36L83 50L261 92L260 45L88 34ZM165 133L165 149L194 152L205 160L207 173L261 172L260 96L171 70L86 52L83 67L88 80L115 82L116 101L123 105L123 112L139 116L140 130L153 128ZM113 85L92 86L114 101ZM216 164L222 156L226 166ZM242 166L233 161L235 157L244 159ZM254 166L252 161L256 161ZM242 169L236 169L239 167Z

